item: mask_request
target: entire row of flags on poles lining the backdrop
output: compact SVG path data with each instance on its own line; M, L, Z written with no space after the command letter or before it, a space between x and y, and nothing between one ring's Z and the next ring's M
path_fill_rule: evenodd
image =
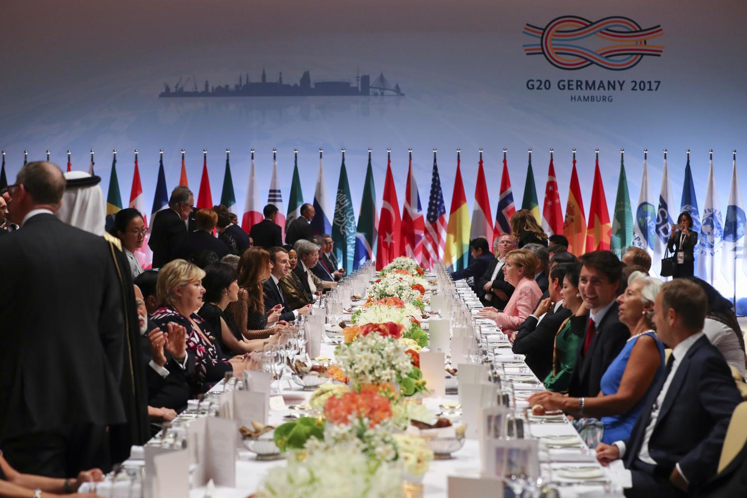
M431 267L434 261L443 260L456 269L463 268L468 263L469 240L475 237L486 237L492 241L501 234L509 234L511 228L509 220L515 213L511 180L506 159L506 149L503 149L503 172L500 181L498 208L495 217L490 208L489 192L483 169L483 149L480 149L480 159L477 164L477 182L475 202L472 213L468 212L464 184L461 172L461 151L456 151L456 178L449 215L447 217L444 206L444 196L438 175L436 149L433 149L433 174L431 178L430 196L425 213L421 205L420 194L415 174L412 169L412 149L409 149L409 168L407 174L403 211L400 215L397 202L397 188L391 173L391 149L387 149L387 169L385 175L384 193L380 216L377 216L376 188L373 181L371 166L371 149L368 149L368 166L364 182L362 202L359 217L353 209L350 196L350 185L345 168L345 149L341 149L342 164L338 189L335 195L335 209L329 209L326 193L326 180L323 170L323 149L319 149L319 169L314 190L315 216L311 226L316 234L331 233L335 241L335 251L338 260L348 270L356 269L365 261L373 260L376 255L376 266L381 268L389 261L400 255L415 258L424 267ZM137 208L146 220L152 219L156 212L167 208L169 190L166 186L164 174L163 150L160 151L158 180L155 189L150 218L146 217L143 188L140 183L138 169L138 151L134 152L134 174L130 192L129 207ZM47 151L49 159L49 151ZM24 164L28 161L24 153ZM639 246L654 256L654 271L657 264L666 253L666 243L669 231L680 212L687 211L693 220L692 229L699 233L698 247L695 250L697 275L713 283L716 278L716 259L721 255L722 273L727 280L735 278L737 267L742 267L747 273L747 258L745 243L746 216L742 201L739 178L737 177L736 151L733 152L733 167L731 175L731 189L725 220L719 210L716 181L713 176L713 151L710 152L710 170L708 175L707 194L704 211L699 213L698 202L695 198L695 186L689 164L689 149L685 166L685 181L682 190L680 211L674 210L672 189L669 183L667 151L664 149L663 178L659 199L654 199L650 193L648 181L648 150L644 149L643 172L638 204L635 216L630 205L627 187L627 175L624 167L624 150L620 151L619 181L613 212L607 211L607 199L599 169L599 152L595 151L595 172L592 184L591 206L588 223L583 208L583 196L580 190L576 170L576 150L573 149L571 182L568 191L568 201L565 206L565 216L562 213L559 188L554 169L554 151L550 149L550 164L545 184L545 199L542 211L536 193L534 172L532 166L532 149L528 150L527 176L524 185L524 198L521 208L529 210L539 225L542 225L548 235L563 234L568 238L568 250L575 255L596 249L610 249L622 255L627 246ZM5 177L5 153L2 152L2 168L0 171L0 187L7 185ZM114 149L111 177L108 190L107 214L114 214L123 208L120 197L119 181L117 178L117 150ZM68 151L68 170L71 168ZM93 150L91 150L89 172L93 173ZM187 185L185 168L185 151L182 149L182 170L179 184ZM255 174L254 149L251 149L251 165L249 169L249 184L241 217L241 227L249 232L257 222L263 219L261 202L258 194L258 182ZM285 230L287 222L300 217L303 205L303 192L298 171L298 149L294 149L294 171L291 180L291 192L288 211L285 211L282 191L277 175L277 152L273 149L273 170L270 179L270 193L267 203L279 208L280 216L276 222ZM223 175L223 189L220 203L226 205L234 214L238 214L236 199L230 168L230 150L226 149L226 167ZM203 149L202 178L196 199L197 208L211 208L210 179L208 176L207 150ZM287 219L283 215L287 212ZM332 214L332 220L329 219ZM673 216L674 215L674 216ZM285 234L283 235L285 238ZM142 255L147 258L147 255ZM147 264L147 262L146 262Z

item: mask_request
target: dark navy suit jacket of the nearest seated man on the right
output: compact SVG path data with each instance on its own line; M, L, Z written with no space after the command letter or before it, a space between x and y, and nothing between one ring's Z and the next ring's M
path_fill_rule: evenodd
M625 441L626 468L638 458L651 408L665 380L663 376L651 389ZM700 337L682 358L648 441L648 452L657 462L654 474L669 476L675 464L680 464L690 491L704 485L716 473L731 414L741 401L724 357L707 337Z

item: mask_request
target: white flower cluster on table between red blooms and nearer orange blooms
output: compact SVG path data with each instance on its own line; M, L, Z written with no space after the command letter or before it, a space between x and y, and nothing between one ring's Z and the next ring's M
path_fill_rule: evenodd
M397 375L406 377L412 370L405 347L378 332L341 344L335 364L350 378L350 385L397 382Z

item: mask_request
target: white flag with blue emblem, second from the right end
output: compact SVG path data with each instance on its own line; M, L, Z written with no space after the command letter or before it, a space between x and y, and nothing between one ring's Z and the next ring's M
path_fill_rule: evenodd
M719 193L716 191L716 178L713 178L713 151L710 151L708 168L708 189L701 218L700 239L698 240L698 277L713 285L716 280L716 258L721 252L724 228L719 208Z

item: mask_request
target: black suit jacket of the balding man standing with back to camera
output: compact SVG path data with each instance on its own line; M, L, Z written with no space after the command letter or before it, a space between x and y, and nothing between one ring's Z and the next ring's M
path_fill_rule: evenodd
M0 441L125 422L123 295L109 244L52 214L0 238Z

